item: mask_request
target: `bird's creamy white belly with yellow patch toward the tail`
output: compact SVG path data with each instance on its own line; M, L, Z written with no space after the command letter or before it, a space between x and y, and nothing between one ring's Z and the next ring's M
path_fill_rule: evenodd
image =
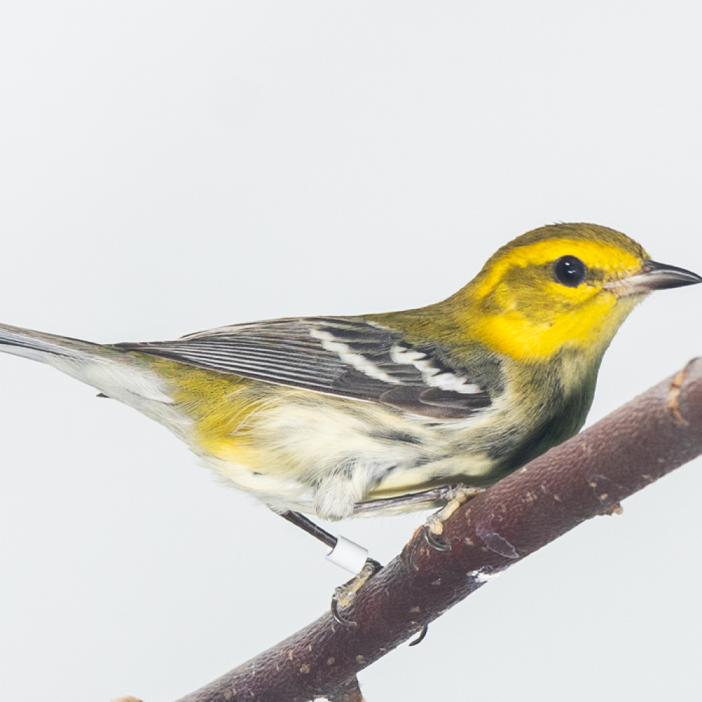
M257 385L259 385L257 383ZM264 389L265 390L265 389ZM239 489L277 510L350 516L364 500L479 477L494 461L470 435L486 418L437 423L382 404L277 388L246 410L194 425L192 448Z

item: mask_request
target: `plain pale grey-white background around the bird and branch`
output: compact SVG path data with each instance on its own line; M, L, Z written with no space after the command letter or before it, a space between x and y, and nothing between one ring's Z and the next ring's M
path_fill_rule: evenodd
M439 300L591 221L702 272L698 3L0 5L2 322L97 341ZM650 298L590 422L702 352ZM0 358L0 698L173 699L345 574L166 430ZM698 698L700 463L360 675L370 702ZM344 524L390 559L422 515Z

